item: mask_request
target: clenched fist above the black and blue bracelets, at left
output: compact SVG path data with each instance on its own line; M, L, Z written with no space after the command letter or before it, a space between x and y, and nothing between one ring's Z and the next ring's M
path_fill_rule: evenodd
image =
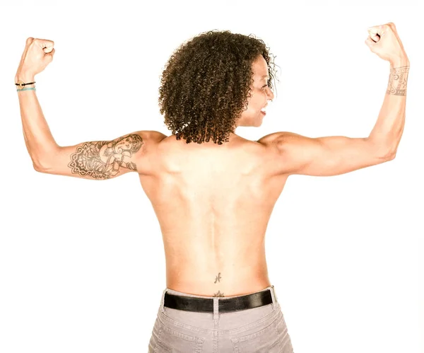
M16 71L16 81L34 79L36 74L40 74L52 62L54 51L52 40L29 37Z

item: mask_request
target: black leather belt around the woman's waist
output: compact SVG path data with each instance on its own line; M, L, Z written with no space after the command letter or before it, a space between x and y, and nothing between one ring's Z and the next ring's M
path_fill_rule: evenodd
M272 303L271 289L259 291L246 296L218 300L218 312L228 313L251 308L257 308ZM163 305L167 308L197 311L201 313L213 313L213 299L197 298L195 296L178 296L165 292Z

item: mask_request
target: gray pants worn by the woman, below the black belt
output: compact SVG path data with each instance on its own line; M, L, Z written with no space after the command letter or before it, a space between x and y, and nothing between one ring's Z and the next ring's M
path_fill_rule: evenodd
M273 286L272 303L219 313L220 299L165 289L153 326L148 352L169 353L293 353L287 326ZM165 292L213 299L213 313L182 311L163 305Z

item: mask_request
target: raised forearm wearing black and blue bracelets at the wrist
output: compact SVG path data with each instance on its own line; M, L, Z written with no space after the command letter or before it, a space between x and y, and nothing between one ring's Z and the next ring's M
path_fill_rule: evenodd
M34 82L34 77L17 74L16 82L18 80L25 83ZM40 168L42 167L42 158L54 153L57 144L42 113L35 91L17 91L17 93L25 145L33 160L34 167Z

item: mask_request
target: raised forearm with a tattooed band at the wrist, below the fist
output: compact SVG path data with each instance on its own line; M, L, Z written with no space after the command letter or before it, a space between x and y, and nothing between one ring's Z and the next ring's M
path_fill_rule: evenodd
M368 139L382 149L384 156L394 156L405 125L406 86L409 60L401 58L390 64L389 83L375 127Z

